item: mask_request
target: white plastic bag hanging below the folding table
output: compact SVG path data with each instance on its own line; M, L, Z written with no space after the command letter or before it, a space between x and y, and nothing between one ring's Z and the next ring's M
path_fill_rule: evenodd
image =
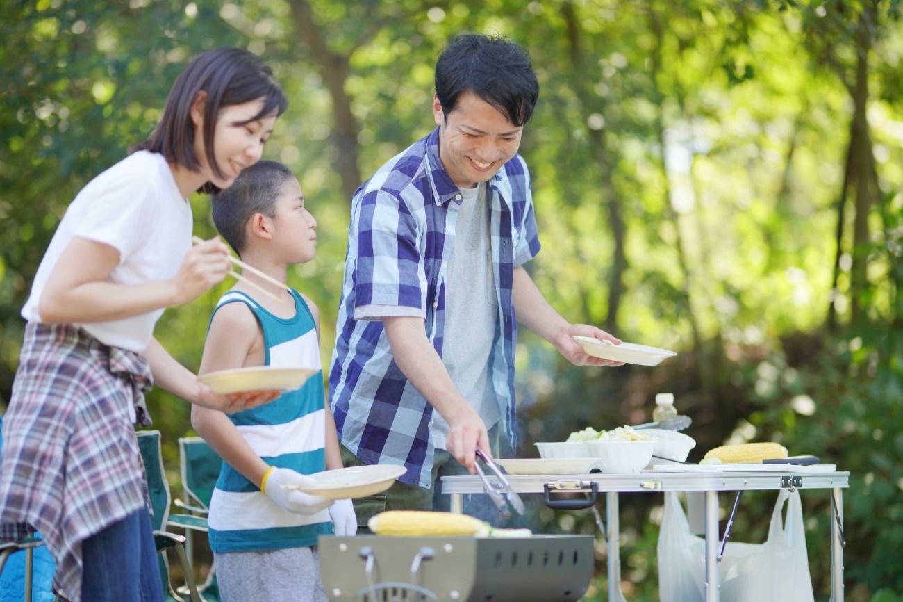
M765 543L728 541L718 574L721 602L813 602L799 492L777 495ZM677 494L670 492L658 534L658 595L661 602L705 599L705 540L691 533Z

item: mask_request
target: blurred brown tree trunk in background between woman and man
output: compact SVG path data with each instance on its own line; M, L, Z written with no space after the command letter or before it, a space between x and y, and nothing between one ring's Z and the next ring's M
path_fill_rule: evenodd
M330 139L336 154L342 193L348 202L360 185L360 149L358 146L358 120L351 112L351 97L345 91L349 74L349 57L330 51L320 28L313 20L313 11L307 0L289 0L292 18L302 42L311 51L320 77L330 91L332 99L332 130Z

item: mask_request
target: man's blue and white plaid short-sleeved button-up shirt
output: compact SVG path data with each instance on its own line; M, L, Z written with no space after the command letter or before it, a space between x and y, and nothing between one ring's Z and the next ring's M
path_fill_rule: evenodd
M492 268L498 298L490 376L514 445L514 268L539 252L526 163L515 155L489 181ZM461 193L439 160L439 129L396 155L351 202L345 281L330 370L330 406L342 444L366 464L407 467L399 480L431 486L433 406L407 380L380 321L423 317L442 356L445 279Z

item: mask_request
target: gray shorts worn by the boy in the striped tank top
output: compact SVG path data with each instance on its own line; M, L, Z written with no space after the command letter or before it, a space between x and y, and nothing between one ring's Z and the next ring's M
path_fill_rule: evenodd
M313 548L213 555L222 602L327 602Z

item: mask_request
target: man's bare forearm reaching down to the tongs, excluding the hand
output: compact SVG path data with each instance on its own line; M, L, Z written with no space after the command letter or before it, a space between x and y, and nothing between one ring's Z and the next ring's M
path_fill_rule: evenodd
M452 424L461 412L473 411L426 338L423 318L386 317L383 325L398 367L442 418Z

